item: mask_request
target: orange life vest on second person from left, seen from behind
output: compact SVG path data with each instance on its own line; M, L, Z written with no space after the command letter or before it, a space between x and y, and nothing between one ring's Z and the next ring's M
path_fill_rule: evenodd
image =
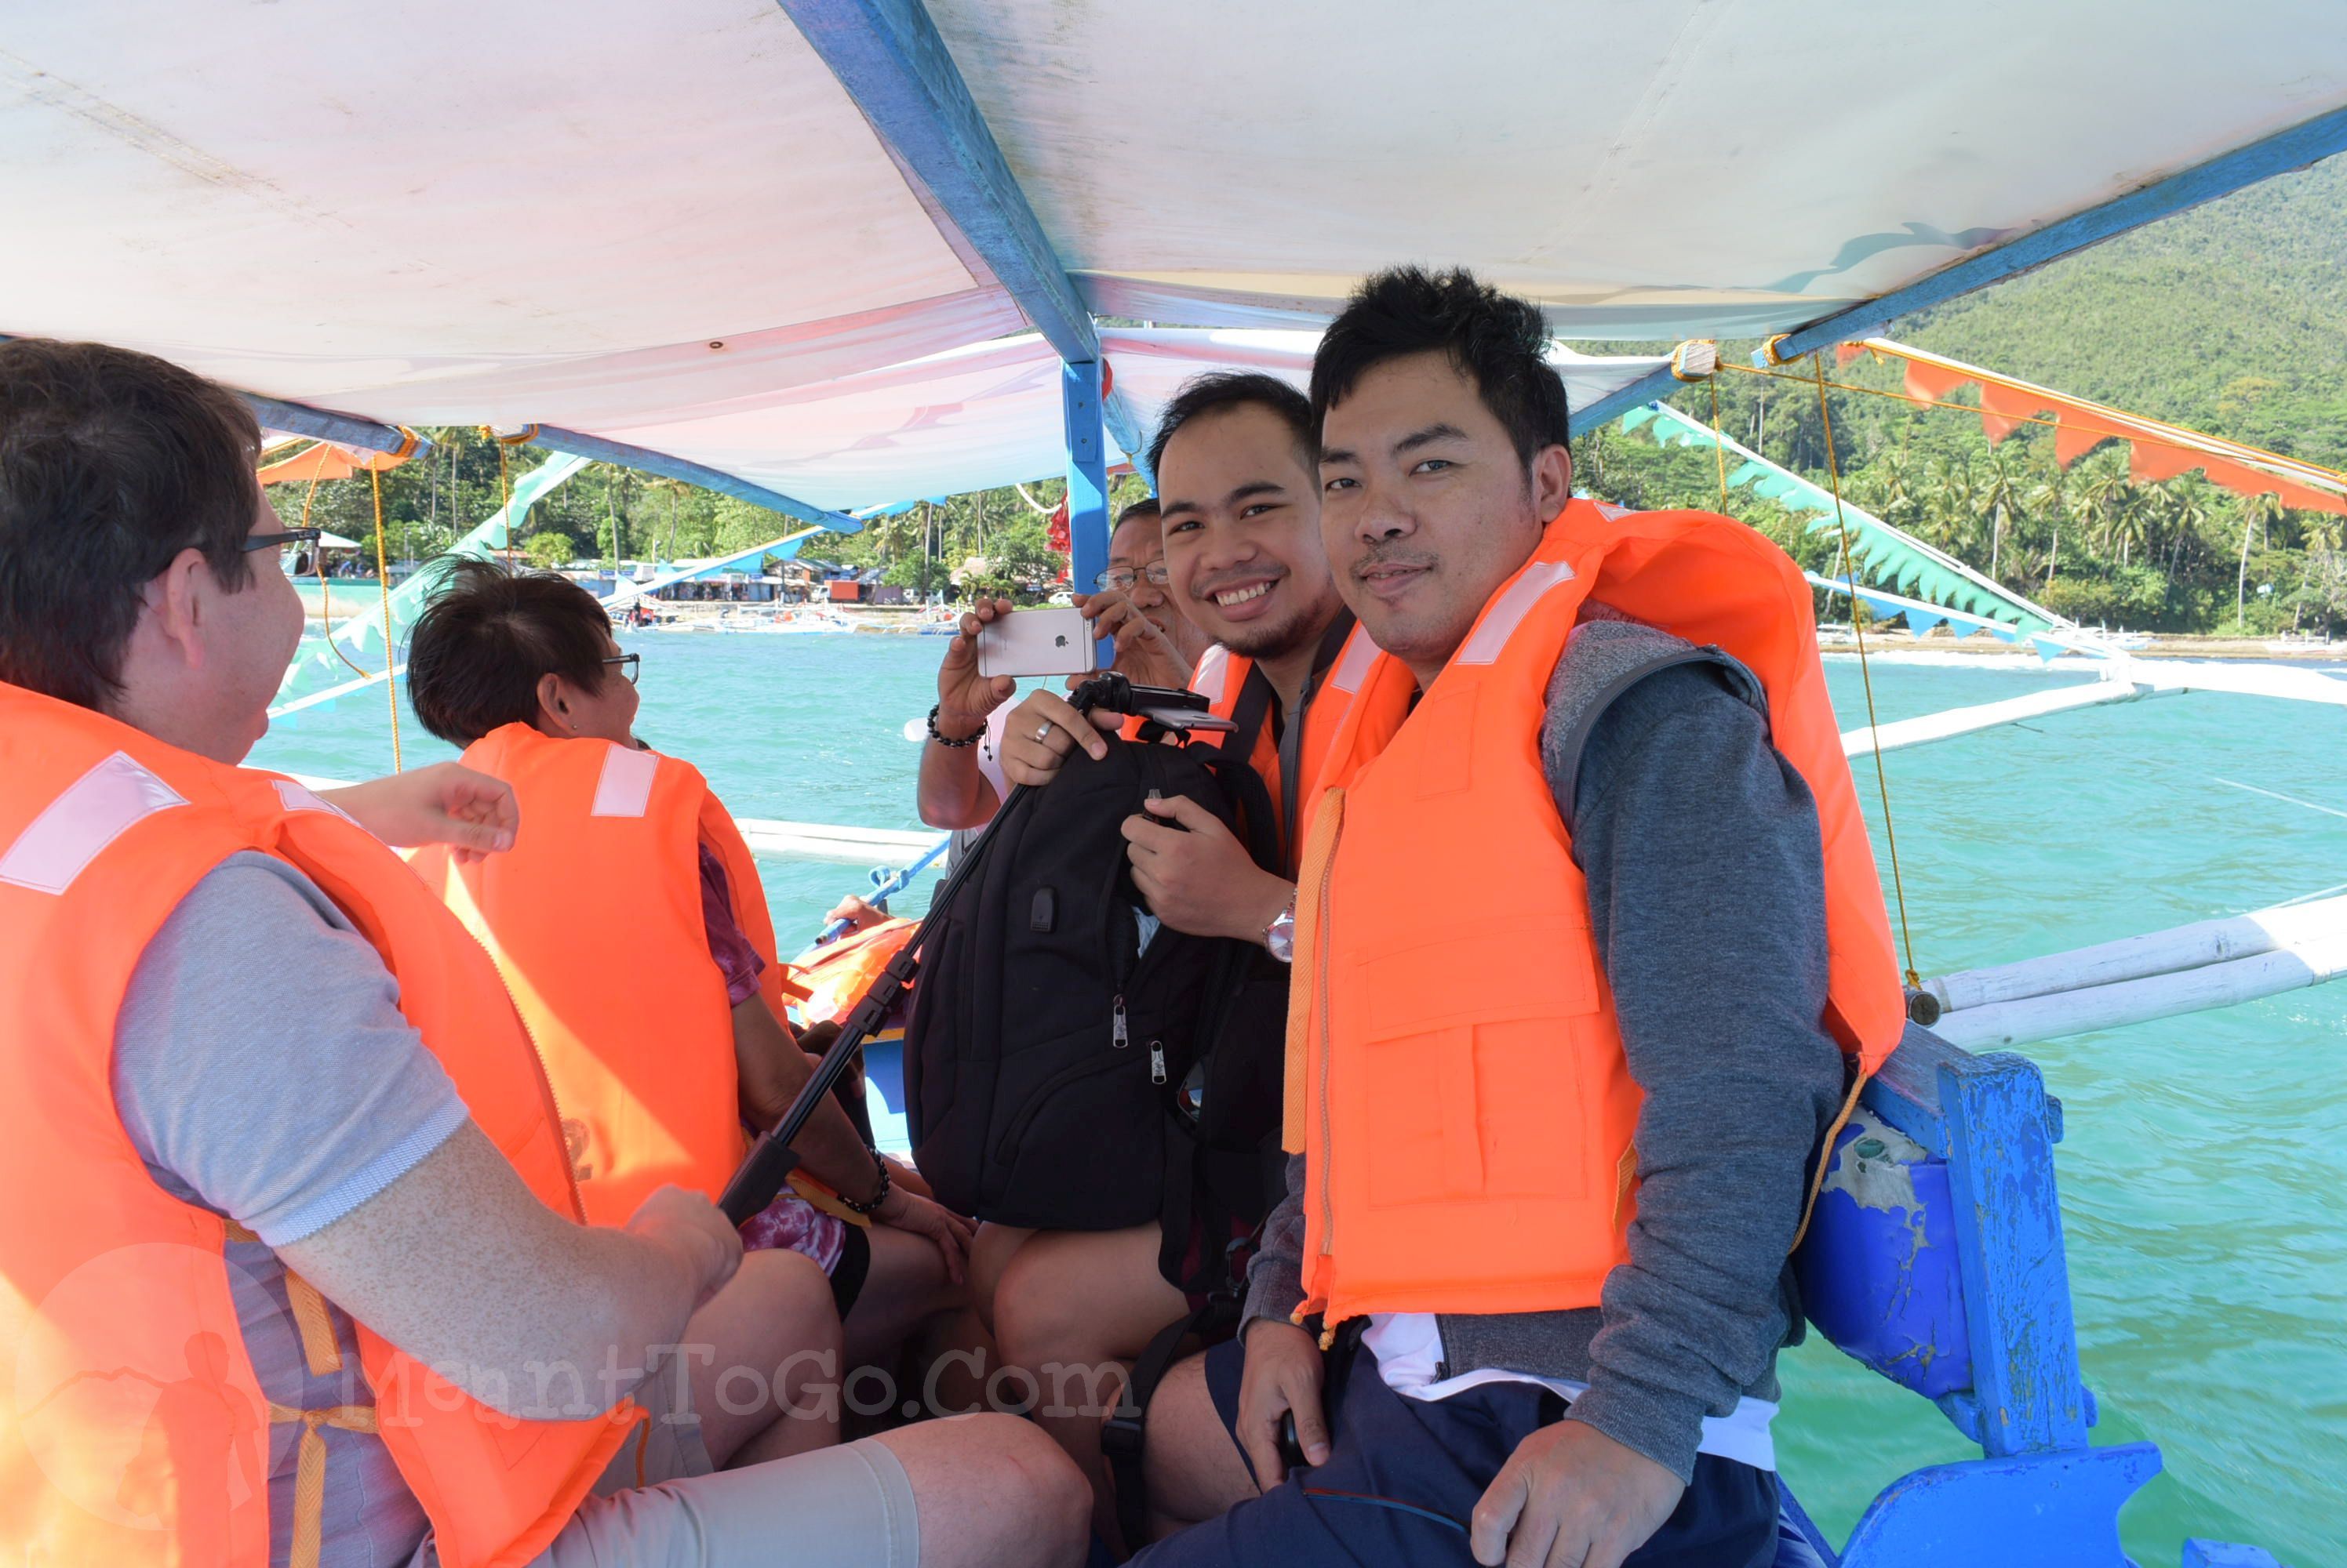
M782 1019L805 995L775 960L758 864L699 770L608 739L509 723L465 765L514 786L505 854L411 857L505 974L545 1056L587 1218L620 1225L662 1183L716 1197L749 1153L732 1002L709 955L699 845Z

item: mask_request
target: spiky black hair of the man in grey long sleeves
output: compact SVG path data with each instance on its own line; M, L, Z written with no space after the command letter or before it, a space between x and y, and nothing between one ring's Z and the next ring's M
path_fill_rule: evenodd
M1465 268L1375 272L1328 324L1312 354L1312 427L1361 376L1406 354L1450 354L1530 467L1544 446L1572 441L1565 378L1549 364L1549 322L1530 300L1500 293Z

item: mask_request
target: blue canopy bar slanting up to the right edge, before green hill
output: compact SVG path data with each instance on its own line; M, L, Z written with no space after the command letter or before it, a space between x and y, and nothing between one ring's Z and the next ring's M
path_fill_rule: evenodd
M2232 153L2211 157L2204 164L2171 174L2162 181L2143 185L2140 190L2129 190L2126 195L2103 202L2101 207L2089 207L2086 211L2070 214L2068 218L2047 223L2044 228L2030 230L2016 239L2007 239L1990 251L1967 256L1964 261L1946 265L1929 277L1920 277L1903 289L1892 289L1889 293L1871 298L1861 305L1810 322L1777 343L1777 359L1800 359L1802 354L1812 354L1835 343L1871 338L1889 322L1913 310L1941 305L1976 289L2000 284L2007 277L2028 272L2030 268L2042 268L2044 263L2070 256L2072 251L2084 251L2091 244L2143 228L2145 223L2157 223L2159 218L2185 211L2187 207L2199 207L2201 202L2232 195L2234 190L2255 185L2274 174L2302 169L2305 164L2319 162L2340 150L2347 150L2347 108L2316 115L2314 120L2293 124L2286 131L2267 136L2265 141L2234 148ZM1572 434L1608 425L1638 404L1669 397L1680 385L1683 383L1678 383L1669 369L1643 376L1619 392L1601 397L1587 408L1575 408Z

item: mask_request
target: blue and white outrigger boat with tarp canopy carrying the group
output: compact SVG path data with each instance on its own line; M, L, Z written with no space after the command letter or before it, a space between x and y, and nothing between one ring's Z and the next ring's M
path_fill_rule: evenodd
M1659 401L1720 373L1711 340L1765 340L1763 366L1824 383L1821 354L1896 317L2347 148L2328 0L2218 19L2089 0L99 2L9 16L0 127L0 329L143 347L242 387L265 427L319 444L314 467L380 467L441 425L559 453L460 552L509 549L507 523L587 460L793 519L681 573L852 533L859 509L1063 472L1082 584L1105 563L1108 472L1141 462L1174 385L1300 378L1357 277L1432 258L1540 300L1565 340L1685 340L1558 350L1575 432L1629 415L1713 444L1723 495L1812 502L1854 538L1821 592L2105 671L1873 725L1852 756L2162 690L2347 704L2312 671L2131 660ZM1967 371L1990 376L1932 376ZM1976 385L2004 413L2115 413ZM2176 441L2096 439L2138 437ZM2263 458L2192 462L2340 495ZM667 580L615 584L613 603ZM275 714L399 674L430 582L366 587L371 613L333 634L343 655L298 664ZM934 852L744 829L784 854ZM1882 1476L1840 1545L1786 1493L1779 1563L2126 1561L2117 1514L2159 1451L2091 1441L2063 1108L2025 1056L1967 1047L2342 967L2347 901L2331 899L1917 988L1798 1270L1814 1326L1932 1399L1981 1458ZM875 1094L901 1113L882 1066ZM2272 1561L2185 1549L2187 1568Z

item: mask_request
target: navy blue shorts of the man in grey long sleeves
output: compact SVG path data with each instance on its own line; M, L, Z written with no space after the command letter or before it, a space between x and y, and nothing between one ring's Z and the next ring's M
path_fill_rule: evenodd
M1206 1392L1235 1444L1242 1371L1242 1340L1206 1352ZM1291 1472L1286 1486L1157 1542L1134 1563L1472 1568L1467 1519L1483 1488L1516 1444L1558 1420L1563 1408L1563 1399L1533 1383L1488 1383L1439 1401L1404 1399L1385 1387L1378 1359L1364 1350L1352 1357L1331 1415L1326 1465ZM1774 1561L1777 1476L1702 1453L1678 1509L1624 1568L1767 1568Z

